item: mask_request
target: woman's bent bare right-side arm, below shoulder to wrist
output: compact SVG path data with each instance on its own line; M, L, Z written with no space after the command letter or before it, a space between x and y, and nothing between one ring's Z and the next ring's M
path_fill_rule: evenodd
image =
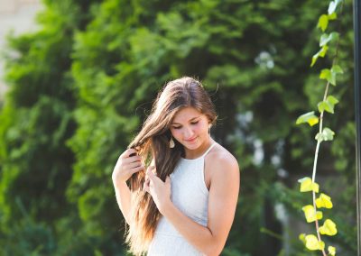
M208 197L207 227L184 215L171 203L171 200L160 198L158 205L162 215L188 242L210 256L219 255L223 250L233 223L239 191L239 169L236 160L230 157L213 158L209 160L208 166L212 167L212 175ZM151 178L153 183L154 177ZM155 182L159 181L160 179L157 179ZM164 186L167 186L167 182ZM158 186L153 185L153 189L154 187Z

